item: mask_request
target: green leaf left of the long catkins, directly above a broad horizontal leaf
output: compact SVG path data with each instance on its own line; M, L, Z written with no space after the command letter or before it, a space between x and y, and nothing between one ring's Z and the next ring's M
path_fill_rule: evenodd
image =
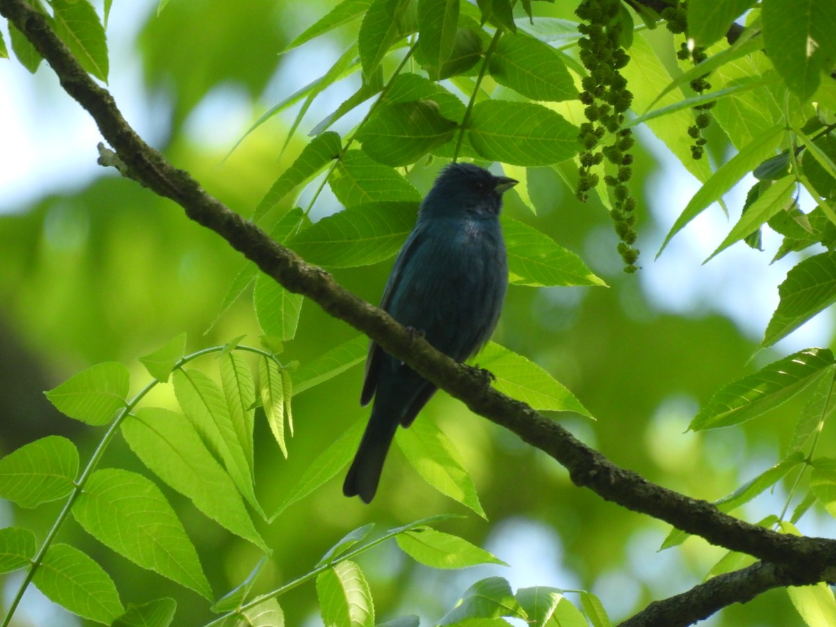
M502 37L491 55L488 69L497 83L533 100L562 101L578 97L563 55L524 33Z

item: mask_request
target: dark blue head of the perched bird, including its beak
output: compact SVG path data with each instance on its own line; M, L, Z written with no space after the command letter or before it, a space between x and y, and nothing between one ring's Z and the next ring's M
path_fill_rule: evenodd
M502 192L515 185L517 181L494 176L472 163L452 163L439 174L421 204L421 213L424 217L496 217L502 207Z

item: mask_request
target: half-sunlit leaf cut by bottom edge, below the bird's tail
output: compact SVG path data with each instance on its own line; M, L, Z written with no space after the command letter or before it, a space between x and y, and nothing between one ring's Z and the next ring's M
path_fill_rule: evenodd
M363 571L349 560L316 578L316 593L324 624L375 627L375 605Z

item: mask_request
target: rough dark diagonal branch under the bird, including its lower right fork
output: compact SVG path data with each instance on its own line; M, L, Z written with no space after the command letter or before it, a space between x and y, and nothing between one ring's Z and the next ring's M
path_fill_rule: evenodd
M433 349L426 340L410 334L385 312L349 293L329 273L274 242L252 222L207 194L187 172L177 170L145 144L122 117L110 93L81 69L41 13L24 0L0 0L0 14L33 43L58 74L67 93L93 116L102 135L115 148L133 178L161 196L176 201L188 217L217 232L284 288L318 303L326 312L374 339L387 352L403 359L416 372L463 401L477 414L548 453L568 469L572 481L579 487L589 487L608 501L663 520L712 544L771 563L745 569L740 572L739 579L733 579L731 575L712 579L672 599L697 599L695 607L711 612L726 604L744 602L762 589L775 585L813 584L836 579L836 541L785 535L744 523L723 514L709 502L657 486L635 472L614 465L562 426L486 385L481 373L456 364ZM765 573L770 572L781 573L782 579L776 579L766 588L761 583L759 589L758 582L766 581ZM737 584L738 581L747 586ZM700 591L709 585L722 589L722 594L719 591L712 593L722 599L721 604L698 602ZM673 603L672 599L652 604L642 614L650 613L651 609L664 612L668 607L666 604Z

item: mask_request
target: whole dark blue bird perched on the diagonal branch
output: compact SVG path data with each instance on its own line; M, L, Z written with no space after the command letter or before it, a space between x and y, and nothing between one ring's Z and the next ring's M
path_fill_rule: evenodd
M472 164L446 166L421 202L386 283L380 308L459 362L477 353L497 326L508 284L499 212L502 192L516 184ZM370 344L360 405L372 396L375 404L345 477L345 496L371 502L398 425L410 426L435 392L400 359Z

